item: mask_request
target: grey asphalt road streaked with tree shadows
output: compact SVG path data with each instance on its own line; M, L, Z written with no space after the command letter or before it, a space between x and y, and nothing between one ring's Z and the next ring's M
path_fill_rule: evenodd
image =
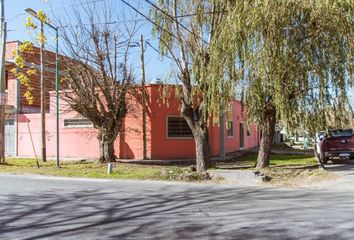
M0 175L0 239L354 239L354 191Z

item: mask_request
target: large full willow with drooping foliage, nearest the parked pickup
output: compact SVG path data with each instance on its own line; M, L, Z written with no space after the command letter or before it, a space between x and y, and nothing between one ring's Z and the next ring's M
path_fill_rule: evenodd
M243 101L262 133L257 168L269 166L277 122L314 130L350 117L354 1L239 0L227 12L220 38L241 54Z

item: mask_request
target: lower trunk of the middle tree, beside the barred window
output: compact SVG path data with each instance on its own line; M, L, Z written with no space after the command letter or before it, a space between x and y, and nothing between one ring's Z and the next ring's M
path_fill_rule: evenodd
M192 130L193 131L193 130ZM195 141L196 169L199 175L205 175L210 164L208 129L196 127L193 131Z

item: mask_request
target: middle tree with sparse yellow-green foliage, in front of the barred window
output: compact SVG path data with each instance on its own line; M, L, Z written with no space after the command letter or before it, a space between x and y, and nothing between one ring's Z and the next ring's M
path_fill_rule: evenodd
M210 160L209 120L230 102L230 80L235 79L235 65L227 63L234 62L236 54L216 50L222 48L218 38L226 16L224 1L146 2L161 55L174 60L181 115L194 136L197 172L204 174ZM227 71L223 64L229 66Z

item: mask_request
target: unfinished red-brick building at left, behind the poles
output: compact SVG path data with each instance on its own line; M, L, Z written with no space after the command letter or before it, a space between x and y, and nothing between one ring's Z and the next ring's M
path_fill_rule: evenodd
M40 49L34 47L33 51L23 54L24 69L26 71L30 67L34 67L37 72L29 76L30 87L33 88L31 95L33 103L29 103L24 97L27 88L21 85L16 79L12 70L16 69L14 58L19 51L19 41L11 41L6 43L5 53L5 92L7 102L5 108L5 154L18 155L19 145L19 120L21 114L39 114L40 113ZM49 112L49 91L54 89L55 84L55 53L44 51L44 79L45 79L45 103L46 110Z

